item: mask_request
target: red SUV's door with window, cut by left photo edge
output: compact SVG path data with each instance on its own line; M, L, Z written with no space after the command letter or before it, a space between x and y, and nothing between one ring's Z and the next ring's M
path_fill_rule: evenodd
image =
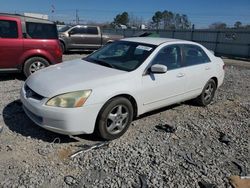
M21 21L0 17L0 69L16 69L23 53Z

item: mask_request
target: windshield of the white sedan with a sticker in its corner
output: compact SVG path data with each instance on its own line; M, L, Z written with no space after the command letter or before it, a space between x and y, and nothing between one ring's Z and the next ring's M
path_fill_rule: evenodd
M119 70L133 71L155 48L155 45L150 44L117 41L104 46L84 60Z

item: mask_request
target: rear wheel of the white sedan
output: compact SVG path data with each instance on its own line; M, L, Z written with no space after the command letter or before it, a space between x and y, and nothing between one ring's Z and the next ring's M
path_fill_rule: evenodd
M215 81L210 79L204 86L202 93L195 99L195 102L199 106L207 106L213 100L216 89Z

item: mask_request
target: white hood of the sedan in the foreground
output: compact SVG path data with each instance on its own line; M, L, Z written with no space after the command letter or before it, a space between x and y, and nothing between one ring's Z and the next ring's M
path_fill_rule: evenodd
M53 97L71 91L94 89L126 73L76 59L37 71L27 79L26 84L44 97Z

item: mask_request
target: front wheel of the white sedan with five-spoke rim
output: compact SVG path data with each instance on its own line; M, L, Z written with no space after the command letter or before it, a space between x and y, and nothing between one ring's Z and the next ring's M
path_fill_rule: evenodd
M123 97L109 100L99 112L96 129L100 137L113 140L122 136L133 119L133 107Z

